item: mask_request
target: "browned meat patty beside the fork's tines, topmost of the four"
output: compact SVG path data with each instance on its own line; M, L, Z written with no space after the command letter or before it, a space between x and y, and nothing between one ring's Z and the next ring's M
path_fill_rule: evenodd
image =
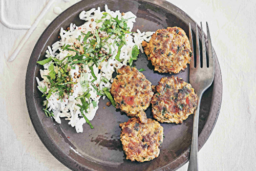
M142 46L147 59L160 73L179 73L191 60L189 40L179 27L157 30L150 42L143 41Z

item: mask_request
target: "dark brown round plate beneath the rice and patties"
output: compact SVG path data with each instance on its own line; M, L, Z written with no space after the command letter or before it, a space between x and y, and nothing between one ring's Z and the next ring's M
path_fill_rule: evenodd
M45 58L47 46L51 46L58 40L61 27L67 28L70 23L80 26L83 20L79 19L79 13L83 10L104 5L112 11L132 11L136 16L133 31L156 31L166 27L180 27L188 33L188 24L193 27L193 34L198 25L185 12L165 1L81 1L57 16L46 28L38 39L31 54L26 75L26 101L31 122L37 135L47 149L61 163L72 170L175 170L188 161L191 135L193 127L193 115L190 115L182 124L161 123L164 128L165 139L160 147L160 155L156 159L144 163L131 162L125 159L120 142L119 124L126 122L129 117L120 113L113 106L106 106L108 99L100 100L99 109L95 118L91 121L94 129L88 124L83 125L83 133L77 134L74 127L68 121L61 119L61 124L52 118L47 118L42 111L41 92L37 89L35 77L40 77L40 65L37 60ZM195 37L195 34L194 34ZM218 118L222 99L222 77L218 58L215 56L214 83L204 93L201 101L199 121L199 149L210 136ZM139 54L135 62L136 68L144 68L143 74L156 85L161 77L171 74L161 74L153 71L153 66L146 59L145 54ZM189 69L179 74L173 74L188 82ZM146 110L148 118L153 118L151 108Z

